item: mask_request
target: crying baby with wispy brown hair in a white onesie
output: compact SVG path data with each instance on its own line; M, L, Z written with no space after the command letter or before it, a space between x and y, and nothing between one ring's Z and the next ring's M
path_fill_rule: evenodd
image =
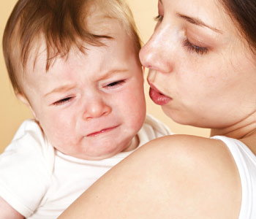
M34 120L0 156L0 218L57 218L132 150L170 134L146 116L140 39L123 1L19 0L3 48Z

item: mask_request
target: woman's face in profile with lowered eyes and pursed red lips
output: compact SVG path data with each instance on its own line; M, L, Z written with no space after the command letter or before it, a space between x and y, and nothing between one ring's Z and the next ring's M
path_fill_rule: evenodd
M214 0L162 0L140 51L151 99L178 123L225 128L256 112L256 59ZM164 94L164 95L163 95Z

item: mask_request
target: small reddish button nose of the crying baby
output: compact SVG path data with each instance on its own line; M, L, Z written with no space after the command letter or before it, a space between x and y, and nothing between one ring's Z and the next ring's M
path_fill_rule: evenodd
M83 119L90 120L92 118L100 118L102 116L109 115L112 108L99 97L94 97L86 102Z

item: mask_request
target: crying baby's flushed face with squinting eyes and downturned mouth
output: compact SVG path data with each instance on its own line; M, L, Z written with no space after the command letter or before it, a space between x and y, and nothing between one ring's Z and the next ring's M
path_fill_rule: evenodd
M109 22L115 39L106 39L106 46L87 45L86 54L72 50L48 72L46 54L39 53L23 82L50 143L77 158L98 160L129 150L146 115L143 73L132 42Z

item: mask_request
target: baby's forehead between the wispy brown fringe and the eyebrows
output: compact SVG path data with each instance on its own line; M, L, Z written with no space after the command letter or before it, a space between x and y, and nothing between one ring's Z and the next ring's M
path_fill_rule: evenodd
M26 91L31 93L43 93L45 88L53 84L65 85L74 82L79 85L87 80L95 82L110 79L110 76L114 77L120 72L124 74L131 69L130 66L134 61L131 61L132 58L128 61L127 50L121 50L120 54L113 53L112 48L105 50L104 47L94 46L89 48L88 53L70 50L67 57L56 57L47 72L45 70L46 51L42 46L39 48L35 63L31 62L27 68L23 86L29 85L30 90L26 89ZM108 74L108 72L114 73Z

